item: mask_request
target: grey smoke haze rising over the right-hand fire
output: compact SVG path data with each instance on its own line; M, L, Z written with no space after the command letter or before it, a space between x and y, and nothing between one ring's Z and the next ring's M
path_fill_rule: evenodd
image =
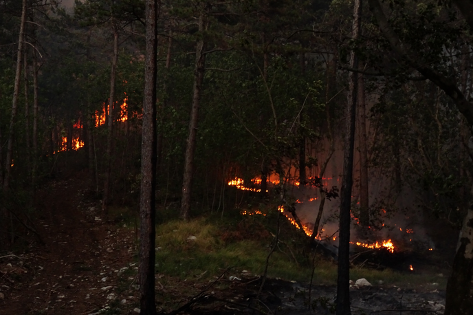
M313 152L312 154L312 156L318 157L318 161L324 161L327 155L324 152L318 154ZM359 161L355 159L354 165L351 241L373 243L375 241L392 239L397 249L434 249L434 243L428 237L423 220L423 212L419 202L417 202L415 192L407 186L404 186L400 192L396 192L391 179L381 173L371 172L369 178L369 206L372 222L369 232L366 232L366 229L360 228L355 216L360 196L358 187ZM343 149L338 147L327 165L325 174L322 176L324 187L330 189L336 186L340 189L342 170ZM320 168L318 172L320 172ZM312 176L320 176L317 170L313 173L316 174ZM300 186L299 188L294 188L292 194L302 202L296 204L296 213L300 220L307 226L314 226L320 206L319 189L311 186ZM322 239L327 238L327 241L335 246L338 246L338 213L340 213L340 198L326 199L319 230L320 228L323 229L320 233ZM333 241L333 236L336 237L335 241Z

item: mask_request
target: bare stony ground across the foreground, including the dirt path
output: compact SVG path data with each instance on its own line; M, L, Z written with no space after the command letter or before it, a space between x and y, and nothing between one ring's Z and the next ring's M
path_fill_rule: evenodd
M85 173L38 191L36 230L44 244L0 257L0 314L138 314L136 232L109 221ZM179 314L332 314L336 287L251 274L176 279L156 274L157 307ZM309 281L307 281L309 282ZM353 314L441 314L445 293L430 286L353 287ZM170 307L170 305L174 305ZM183 307L183 305L185 305ZM421 313L412 312L421 310Z

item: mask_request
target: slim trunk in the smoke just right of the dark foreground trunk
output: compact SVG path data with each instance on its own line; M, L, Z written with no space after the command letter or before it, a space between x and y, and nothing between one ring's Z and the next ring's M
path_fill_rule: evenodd
M360 110L360 224L369 226L369 181L368 181L368 145L366 144L366 96L364 94L364 78L358 78L358 103Z

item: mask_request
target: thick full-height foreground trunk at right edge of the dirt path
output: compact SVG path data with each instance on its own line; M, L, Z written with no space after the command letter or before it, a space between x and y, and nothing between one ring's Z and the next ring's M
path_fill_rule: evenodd
M156 314L155 188L156 188L156 57L157 0L146 0L146 65L141 151L140 314Z

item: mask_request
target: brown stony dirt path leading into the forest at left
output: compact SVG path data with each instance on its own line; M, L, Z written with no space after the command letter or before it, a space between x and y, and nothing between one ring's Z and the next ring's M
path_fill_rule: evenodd
M85 187L74 177L38 192L45 245L0 259L0 314L133 314L135 234L106 222Z

